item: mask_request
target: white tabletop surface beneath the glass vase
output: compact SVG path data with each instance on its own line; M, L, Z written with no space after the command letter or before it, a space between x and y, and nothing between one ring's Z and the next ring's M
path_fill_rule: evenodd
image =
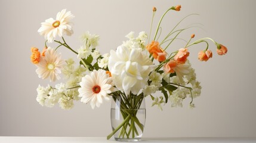
M0 136L0 143L111 143L118 141L107 140L105 137L32 137L32 136ZM252 138L143 138L140 142L256 142L256 137Z

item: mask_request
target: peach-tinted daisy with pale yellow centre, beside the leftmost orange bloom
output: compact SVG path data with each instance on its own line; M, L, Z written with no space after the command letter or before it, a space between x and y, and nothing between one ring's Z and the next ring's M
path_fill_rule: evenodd
M41 56L40 62L36 64L38 67L36 73L39 78L46 79L50 77L50 81L54 82L56 79L60 79L59 74L61 73L63 63L64 60L61 60L61 54L58 54L49 46L45 52L45 57Z

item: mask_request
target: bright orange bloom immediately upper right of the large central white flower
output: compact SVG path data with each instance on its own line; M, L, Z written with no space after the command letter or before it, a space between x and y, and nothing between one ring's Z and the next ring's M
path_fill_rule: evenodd
M164 61L166 59L166 52L161 48L158 41L152 41L146 48L152 54L153 58L158 61Z

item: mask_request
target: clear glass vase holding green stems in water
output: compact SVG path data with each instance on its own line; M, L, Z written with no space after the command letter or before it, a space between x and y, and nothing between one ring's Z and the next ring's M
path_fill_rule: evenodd
M113 96L111 105L112 135L116 141L140 141L146 121L143 96Z

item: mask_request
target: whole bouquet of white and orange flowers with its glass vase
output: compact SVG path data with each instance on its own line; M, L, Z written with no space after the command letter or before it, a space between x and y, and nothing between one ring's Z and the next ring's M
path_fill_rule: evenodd
M161 35L161 22L168 11L180 11L181 6L171 7L162 15L156 27L155 35L151 38L153 18L156 8L153 8L153 17L149 36L140 32L137 37L134 32L128 33L127 41L111 50L109 54L100 54L98 40L100 36L89 32L81 36L81 47L77 50L68 45L64 35L73 33L71 20L74 15L70 11L62 10L57 17L49 18L41 23L38 29L45 38L45 46L40 52L32 47L31 61L37 67L39 78L50 79L50 82L61 79L63 74L65 83L46 87L39 85L36 91L36 101L42 106L53 107L59 104L61 108L69 110L74 100L90 103L91 107L100 107L103 100L112 97L111 122L113 135L118 141L139 141L146 119L144 98L152 99L153 105L162 110L162 105L170 102L171 107L182 107L183 100L190 98L190 107L195 107L193 99L201 94L200 82L196 80L195 70L189 60L189 47L206 43L206 48L199 52L200 61L212 58L212 51L208 49L208 41L217 47L217 54L224 55L227 48L211 38L202 38L189 41L180 46L178 51L167 52L168 47L186 29L177 29L186 17L169 31L164 39ZM188 15L187 17L189 17ZM57 40L57 37L60 39ZM183 40L185 41L185 40ZM57 43L56 47L48 44ZM63 60L60 47L66 47L77 57L78 63L72 58ZM77 64L77 65L76 65ZM161 95L155 94L162 92Z

